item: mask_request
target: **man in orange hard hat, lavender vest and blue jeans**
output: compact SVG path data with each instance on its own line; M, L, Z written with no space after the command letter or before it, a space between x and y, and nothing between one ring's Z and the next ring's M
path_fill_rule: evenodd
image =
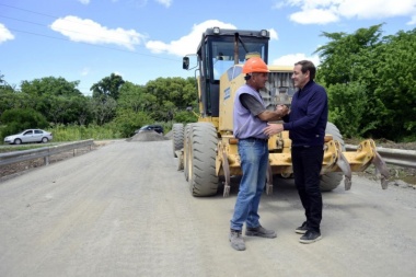
M233 135L239 139L239 154L243 176L230 224L231 246L245 250L242 229L245 235L276 238L276 232L259 223L258 205L266 184L268 165L268 137L264 134L267 122L278 120L288 113L288 107L277 106L267 111L259 94L268 79L267 65L259 57L247 59L243 66L246 83L235 93L233 111Z

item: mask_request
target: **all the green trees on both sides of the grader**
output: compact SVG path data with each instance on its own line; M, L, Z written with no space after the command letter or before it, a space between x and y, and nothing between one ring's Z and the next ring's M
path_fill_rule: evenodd
M416 30L383 36L382 24L351 34L326 33L316 54L316 82L327 89L330 120L345 138L416 140ZM123 137L150 123L196 122L194 78L158 78L145 85L112 73L83 95L79 81L46 77L18 91L0 74L3 137L24 128L109 126Z

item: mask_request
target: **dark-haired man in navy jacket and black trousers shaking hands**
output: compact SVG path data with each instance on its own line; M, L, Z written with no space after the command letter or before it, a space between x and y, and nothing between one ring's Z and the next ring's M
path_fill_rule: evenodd
M282 118L285 124L271 124L264 130L267 136L289 130L294 184L307 217L307 221L294 230L303 234L301 243L322 238L320 173L328 106L325 89L313 81L315 72L315 66L309 60L294 64L292 80L299 91L293 95L290 113Z

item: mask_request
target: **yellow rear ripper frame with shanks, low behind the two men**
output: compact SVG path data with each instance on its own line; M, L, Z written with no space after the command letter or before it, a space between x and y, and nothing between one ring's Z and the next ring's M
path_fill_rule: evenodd
M291 140L288 138L287 131L275 135L268 140L269 178L274 174L290 176L293 173L290 147ZM242 174L238 139L232 135L223 135L218 141L217 151L216 173L218 176L226 176L226 184L229 184L230 176ZM321 174L343 172L345 188L349 189L351 172L362 172L371 164L374 164L381 173L381 185L386 188L389 172L377 153L372 139L363 140L356 152L345 152L339 141L332 139L331 135L326 137Z

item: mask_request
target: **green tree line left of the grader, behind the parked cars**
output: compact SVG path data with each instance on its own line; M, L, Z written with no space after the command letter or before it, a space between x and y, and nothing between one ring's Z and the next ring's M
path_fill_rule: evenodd
M196 120L186 112L189 106L197 107L194 78L158 78L139 85L112 73L91 86L92 96L82 94L78 84L46 77L23 81L16 91L0 76L2 136L34 126L93 125L109 126L122 137L129 137L150 123Z

